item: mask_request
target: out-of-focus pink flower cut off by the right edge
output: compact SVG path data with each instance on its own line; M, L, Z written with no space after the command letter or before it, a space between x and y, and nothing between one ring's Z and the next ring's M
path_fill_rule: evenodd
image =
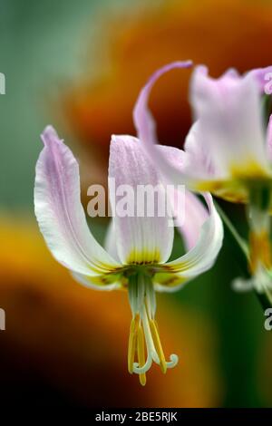
M272 67L239 75L228 70L219 79L204 66L194 70L190 102L195 121L185 140L182 168L170 164L155 148L154 121L148 109L151 88L161 74L183 63L170 63L154 73L142 89L134 121L150 157L171 182L185 183L194 191L209 190L228 201L248 205L250 285L266 292L272 302L272 264L269 243L271 209L272 120L264 105L271 94ZM267 112L267 111L266 111ZM270 287L270 291L267 287Z

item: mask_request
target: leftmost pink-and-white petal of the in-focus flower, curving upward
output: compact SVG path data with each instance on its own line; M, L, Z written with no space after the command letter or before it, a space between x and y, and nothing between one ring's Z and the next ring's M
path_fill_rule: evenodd
M51 126L42 134L36 164L34 208L53 257L73 272L93 276L119 264L92 237L80 197L79 166Z

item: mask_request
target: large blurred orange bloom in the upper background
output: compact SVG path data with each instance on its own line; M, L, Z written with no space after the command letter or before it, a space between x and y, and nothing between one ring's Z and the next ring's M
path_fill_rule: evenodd
M131 12L103 16L100 43L93 47L93 39L88 42L87 37L82 77L63 93L65 116L77 138L91 152L100 144L105 160L112 129L134 133L134 102L142 84L161 65L191 59L207 63L211 75L219 76L230 66L242 73L271 62L272 8L268 2L149 3L136 5ZM99 53L101 49L104 54ZM101 58L95 64L93 50ZM165 75L151 96L161 143L180 147L189 131L189 75L190 71Z

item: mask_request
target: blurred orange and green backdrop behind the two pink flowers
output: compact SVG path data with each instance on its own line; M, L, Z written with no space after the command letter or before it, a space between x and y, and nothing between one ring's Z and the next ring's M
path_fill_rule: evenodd
M218 76L272 63L272 3L215 0L0 0L1 403L42 406L263 407L272 403L271 335L228 241L216 266L180 293L160 295L158 320L180 364L142 389L126 371L126 295L73 282L44 247L33 207L39 135L53 124L73 148L86 188L106 181L112 133L134 133L131 109L148 75L177 59ZM160 140L189 130L189 73L154 90ZM242 207L222 204L246 232ZM102 241L107 221L93 221ZM175 254L180 255L180 240ZM118 384L116 384L118 383Z

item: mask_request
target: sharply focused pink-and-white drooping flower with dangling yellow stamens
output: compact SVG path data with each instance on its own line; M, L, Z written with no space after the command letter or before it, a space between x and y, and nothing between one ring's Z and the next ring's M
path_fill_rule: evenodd
M212 198L204 194L208 208L186 192L188 215L180 227L188 253L167 262L173 244L173 218L159 214L160 195L165 192L159 172L131 136L112 136L109 177L136 189L138 185L158 186L152 217L148 215L112 218L105 248L92 236L80 196L79 166L73 153L52 127L42 135L42 150L36 165L35 215L53 257L70 269L84 286L99 290L124 288L131 305L128 369L137 373L142 385L151 363L163 373L178 363L167 361L155 321L155 291L175 291L213 265L221 247L222 224ZM170 150L169 160L178 160L178 150ZM181 160L181 159L180 159ZM112 206L116 193L111 192ZM137 207L137 206L136 206ZM185 212L186 214L186 212Z

